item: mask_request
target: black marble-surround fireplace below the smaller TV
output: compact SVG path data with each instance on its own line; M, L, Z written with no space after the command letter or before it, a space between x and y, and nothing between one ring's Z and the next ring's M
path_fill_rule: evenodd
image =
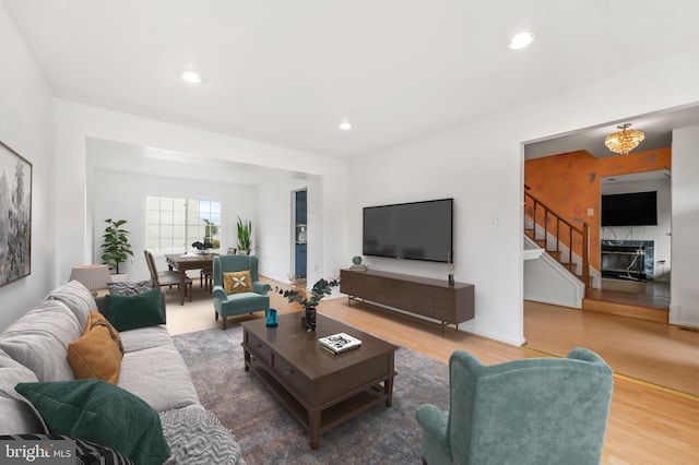
M652 281L654 241L602 240L602 277Z

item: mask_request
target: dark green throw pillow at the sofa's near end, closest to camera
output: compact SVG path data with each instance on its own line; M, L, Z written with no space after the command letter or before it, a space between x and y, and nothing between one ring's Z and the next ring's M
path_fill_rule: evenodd
M170 456L161 419L150 405L100 380L20 383L15 390L38 410L51 434L96 442L137 464Z

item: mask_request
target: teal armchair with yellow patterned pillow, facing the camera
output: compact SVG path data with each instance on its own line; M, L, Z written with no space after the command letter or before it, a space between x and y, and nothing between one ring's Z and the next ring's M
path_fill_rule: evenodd
M223 286L223 273L250 271L252 293L227 295ZM226 329L226 319L238 314L264 311L270 308L270 296L266 293L272 288L266 283L261 283L258 275L257 255L220 255L214 257L214 309L215 318L223 319L223 329Z

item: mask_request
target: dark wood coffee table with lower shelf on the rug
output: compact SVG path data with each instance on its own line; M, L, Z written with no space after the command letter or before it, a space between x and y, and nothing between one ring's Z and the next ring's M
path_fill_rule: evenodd
M321 433L393 396L393 344L321 314L316 332L301 329L303 312L281 314L277 327L265 319L242 323L245 370L256 373L310 433L317 449ZM362 347L333 355L319 337L346 333Z

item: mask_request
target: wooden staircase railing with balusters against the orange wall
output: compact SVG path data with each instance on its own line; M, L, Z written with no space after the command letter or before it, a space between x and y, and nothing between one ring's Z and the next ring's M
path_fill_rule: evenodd
M524 192L524 235L580 279L587 294L591 285L587 223L577 227Z

